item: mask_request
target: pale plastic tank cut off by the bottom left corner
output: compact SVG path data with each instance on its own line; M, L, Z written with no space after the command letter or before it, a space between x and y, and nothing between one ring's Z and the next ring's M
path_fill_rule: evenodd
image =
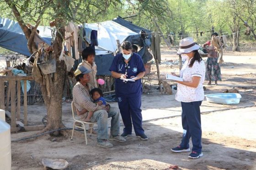
M0 119L0 170L11 170L11 126Z

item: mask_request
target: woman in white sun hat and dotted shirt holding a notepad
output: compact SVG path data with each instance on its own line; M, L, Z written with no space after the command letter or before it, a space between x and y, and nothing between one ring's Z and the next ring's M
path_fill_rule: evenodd
M176 100L181 102L182 108L183 136L181 144L172 148L171 151L189 152L189 139L191 137L193 147L192 153L188 156L191 159L203 156L200 105L204 99L205 65L198 53L199 48L200 46L195 44L191 37L187 37L180 41L177 52L182 59L186 60L180 71L180 77L183 81L176 81L178 83Z

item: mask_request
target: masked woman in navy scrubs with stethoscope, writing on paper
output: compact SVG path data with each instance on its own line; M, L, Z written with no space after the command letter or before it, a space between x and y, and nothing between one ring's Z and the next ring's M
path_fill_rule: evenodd
M142 128L141 115L141 78L145 74L145 67L141 57L132 52L132 44L124 41L121 44L122 53L117 54L109 69L112 77L115 77L115 91L118 107L122 115L124 129L122 137L126 138L132 134L132 124L136 136L142 140L148 137ZM133 78L133 81L123 79Z

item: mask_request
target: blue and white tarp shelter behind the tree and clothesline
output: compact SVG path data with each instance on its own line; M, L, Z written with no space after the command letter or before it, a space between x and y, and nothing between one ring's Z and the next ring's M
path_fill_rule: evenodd
M142 27L136 26L133 23L117 17L113 21L104 21L100 23L85 24L85 27L98 31L98 46L96 46L97 75L110 75L108 71L114 58L113 52L117 50L116 40L120 43L130 41L141 47L145 46L144 40L140 35L140 31L144 30L149 36L151 31ZM38 26L39 36L48 44L51 44L52 31L50 27ZM149 40L149 38L148 38ZM149 40L150 42L150 40ZM21 30L19 24L15 21L0 18L0 46L18 52L25 56L30 56L27 49L27 39ZM141 57L144 57L145 47L139 52ZM143 58L144 62L149 59ZM76 61L76 65L77 65Z

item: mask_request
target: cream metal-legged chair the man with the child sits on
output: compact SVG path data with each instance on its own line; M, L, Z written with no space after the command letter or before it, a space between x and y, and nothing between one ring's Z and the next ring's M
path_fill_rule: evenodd
M75 109L75 104L74 102L71 103L71 107L72 107L72 115L73 115L73 118L75 120L74 124L73 124L73 129L72 129L72 134L71 134L71 140L73 139L73 134L74 134L74 130L75 130L75 127L76 128L80 128L80 129L84 129L84 132L85 132L85 144L87 145L87 135L86 135L86 128L85 128L85 124L91 124L91 128L89 127L88 129L91 129L91 132L90 134L92 133L92 128L93 128L93 124L96 124L97 122L84 122L84 121L81 121L81 120L78 120L75 118L75 113L76 113L76 109ZM75 123L81 123L81 126L79 125L76 125Z

